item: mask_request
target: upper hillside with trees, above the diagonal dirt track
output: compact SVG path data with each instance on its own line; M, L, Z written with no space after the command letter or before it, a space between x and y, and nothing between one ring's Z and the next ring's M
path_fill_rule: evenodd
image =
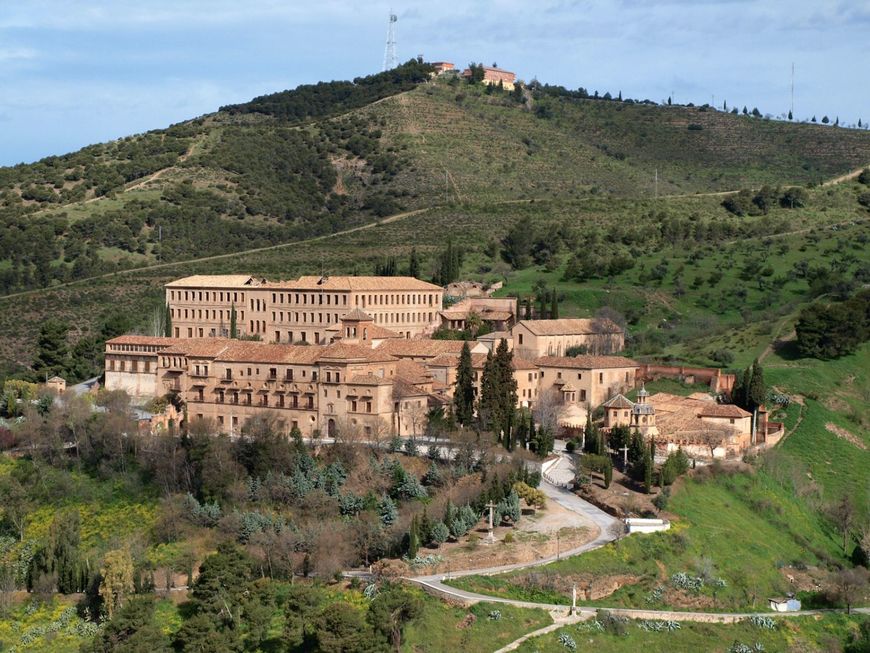
M870 134L709 107L528 100L414 61L0 169L0 293L329 234L445 203L811 184ZM576 94L575 94L576 95Z

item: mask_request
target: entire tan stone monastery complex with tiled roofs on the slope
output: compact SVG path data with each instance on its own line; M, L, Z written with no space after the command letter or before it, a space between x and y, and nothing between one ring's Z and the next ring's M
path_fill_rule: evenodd
M648 397L641 387L630 401L625 394L646 368L618 355L625 334L610 320L518 320L511 298L466 297L444 308L444 289L412 277L193 276L165 290L172 337L109 340L105 385L139 402L174 395L187 419L231 435L260 414L305 436L421 435L430 410L450 409L464 344L431 335L469 320L498 329L468 343L475 391L504 340L517 407L551 406L565 435L600 409L605 429L625 425L663 451L722 457L765 442L776 427L765 420L758 437L752 415L711 395ZM591 353L567 355L579 347Z

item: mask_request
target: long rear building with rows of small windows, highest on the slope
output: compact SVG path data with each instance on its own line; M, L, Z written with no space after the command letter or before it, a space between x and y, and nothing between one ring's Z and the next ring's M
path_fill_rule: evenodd
M259 336L266 342L324 344L354 309L406 338L439 324L443 289L413 277L318 277L267 281L196 275L166 284L176 338Z

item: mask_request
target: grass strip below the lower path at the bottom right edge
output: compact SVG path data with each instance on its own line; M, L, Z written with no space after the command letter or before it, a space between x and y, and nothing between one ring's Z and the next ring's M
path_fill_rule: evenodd
M522 653L564 653L568 649L559 641L567 633L577 644L577 650L608 653L726 653L734 642L753 646L756 642L765 651L839 651L842 645L857 637L866 617L847 618L828 615L820 619L796 618L780 620L774 630L764 630L750 623L705 624L683 622L671 633L645 632L639 621L625 624L625 634L597 632L581 623L566 626L541 637L524 642Z

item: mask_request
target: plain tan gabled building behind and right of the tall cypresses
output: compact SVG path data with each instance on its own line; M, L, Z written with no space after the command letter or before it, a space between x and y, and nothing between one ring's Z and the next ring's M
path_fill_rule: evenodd
M625 330L606 318L520 320L511 335L514 351L523 358L566 356L572 347L589 354L615 354L625 347Z

